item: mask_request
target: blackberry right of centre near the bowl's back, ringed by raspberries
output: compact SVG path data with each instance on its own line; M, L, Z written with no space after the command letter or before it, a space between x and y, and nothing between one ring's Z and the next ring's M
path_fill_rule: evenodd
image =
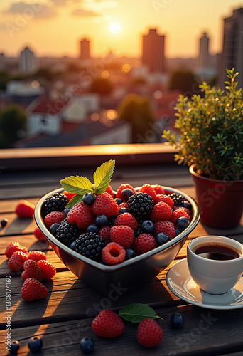
M129 212L137 221L149 218L153 210L153 199L147 193L136 193L129 198Z

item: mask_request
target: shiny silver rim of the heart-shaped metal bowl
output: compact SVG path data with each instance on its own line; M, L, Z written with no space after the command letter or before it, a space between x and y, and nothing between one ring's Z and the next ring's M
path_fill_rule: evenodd
M80 255L80 253L73 251L72 248L65 246L60 241L55 239L55 236L53 236L53 234L50 234L50 231L45 226L43 217L41 216L41 208L42 208L43 202L50 195L52 195L54 193L63 192L65 190L65 189L63 189L63 187L60 187L58 189L54 189L51 192L48 192L37 202L37 204L35 206L35 211L34 211L34 219L36 221L38 228L47 237L47 239L55 246L58 246L58 248L60 248L61 250L64 250L65 253L68 253L70 256L75 257L77 260L85 262L85 263L89 264L90 266L99 269L100 271L109 271L109 272L117 271L123 267L127 267L127 266L134 264L136 262L143 261L144 259L146 259L150 256L156 255L158 252L161 252L163 250L170 248L171 246L173 246L175 244L178 244L178 242L185 239L185 237L188 236L188 234L190 234L190 231L193 231L193 229L195 229L195 227L198 225L198 223L200 221L200 207L198 206L198 203L195 201L195 199L190 197L190 195L185 194L184 192L181 192L179 189L175 189L172 187L166 187L163 185L161 187L163 187L163 189L165 189L166 192L172 192L172 193L183 195L183 197L185 197L185 199L187 199L190 202L190 204L193 208L193 211L195 212L195 214L193 214L193 219L190 221L190 224L184 231L182 231L180 234L178 234L178 236L175 236L173 239L166 242L166 244L163 244L162 246L153 248L153 250L151 250L151 251L143 253L143 254L136 256L134 258L131 258L129 260L122 261L121 263L117 263L112 266L107 266L107 265L103 265L102 263L99 263L97 261L92 261L90 258L82 256L82 255ZM139 188L140 187L135 187L134 189L139 189Z

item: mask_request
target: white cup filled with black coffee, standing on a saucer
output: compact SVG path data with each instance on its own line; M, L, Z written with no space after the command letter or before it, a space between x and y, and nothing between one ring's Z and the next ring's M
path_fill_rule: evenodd
M215 248L218 253L230 250L235 256L223 261L212 259L216 255L209 252ZM202 256L203 251L207 252L207 257ZM200 289L210 294L222 294L233 288L242 276L243 245L225 236L200 236L188 244L187 259L190 276Z

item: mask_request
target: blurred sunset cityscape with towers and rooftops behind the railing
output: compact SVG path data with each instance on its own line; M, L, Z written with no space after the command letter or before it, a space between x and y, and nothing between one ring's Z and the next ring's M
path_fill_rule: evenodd
M180 94L243 86L243 1L1 0L0 148L163 142Z

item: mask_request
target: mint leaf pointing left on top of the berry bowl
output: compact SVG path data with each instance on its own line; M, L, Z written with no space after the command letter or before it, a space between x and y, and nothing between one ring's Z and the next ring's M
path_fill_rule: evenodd
M63 188L70 193L84 195L85 193L94 192L93 184L90 179L79 176L71 176L60 180Z

